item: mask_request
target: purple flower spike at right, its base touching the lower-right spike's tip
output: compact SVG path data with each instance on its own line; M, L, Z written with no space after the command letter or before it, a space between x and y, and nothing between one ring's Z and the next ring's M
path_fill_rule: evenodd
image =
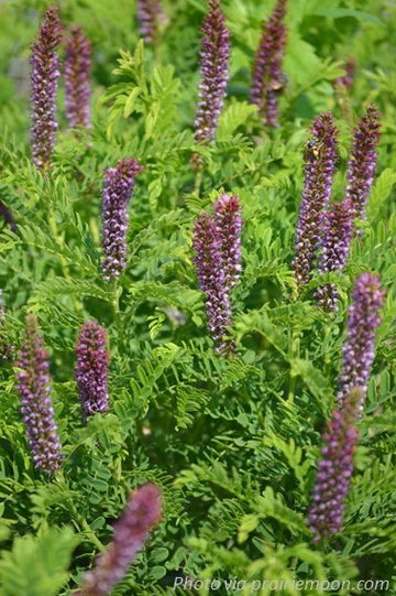
M363 401L374 360L375 330L381 323L380 308L385 292L381 290L380 275L362 273L358 278L349 310L348 332L342 348L342 372L338 393L342 403L353 387L360 387Z

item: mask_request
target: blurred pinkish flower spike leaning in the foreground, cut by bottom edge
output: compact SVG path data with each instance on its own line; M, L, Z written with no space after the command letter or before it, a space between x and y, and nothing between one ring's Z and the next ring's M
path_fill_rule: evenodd
M107 596L122 579L128 567L148 539L152 529L162 517L160 488L147 483L135 490L129 505L114 524L114 538L109 549L100 554L95 567L85 574L79 596Z

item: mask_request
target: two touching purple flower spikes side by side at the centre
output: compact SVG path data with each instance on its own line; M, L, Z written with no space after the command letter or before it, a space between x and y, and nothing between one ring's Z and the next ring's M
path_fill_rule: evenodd
M215 216L204 212L195 224L193 248L199 286L207 295L208 327L222 356L234 351L226 338L231 326L230 291L241 274L241 206L237 195L222 194Z

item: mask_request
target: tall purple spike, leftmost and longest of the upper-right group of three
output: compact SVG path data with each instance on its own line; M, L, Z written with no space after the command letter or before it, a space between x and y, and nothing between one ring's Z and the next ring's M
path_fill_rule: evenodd
M312 138L306 145L306 176L296 232L293 269L298 285L309 282L317 264L321 230L328 210L337 163L337 129L331 112L314 120Z

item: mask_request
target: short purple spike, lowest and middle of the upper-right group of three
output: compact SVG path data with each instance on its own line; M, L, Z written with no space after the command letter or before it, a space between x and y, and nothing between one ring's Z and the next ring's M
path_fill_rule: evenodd
M351 204L334 203L326 215L323 240L318 270L320 273L342 271L346 264L353 231ZM327 283L316 292L318 304L324 311L336 311L339 293L333 283Z

